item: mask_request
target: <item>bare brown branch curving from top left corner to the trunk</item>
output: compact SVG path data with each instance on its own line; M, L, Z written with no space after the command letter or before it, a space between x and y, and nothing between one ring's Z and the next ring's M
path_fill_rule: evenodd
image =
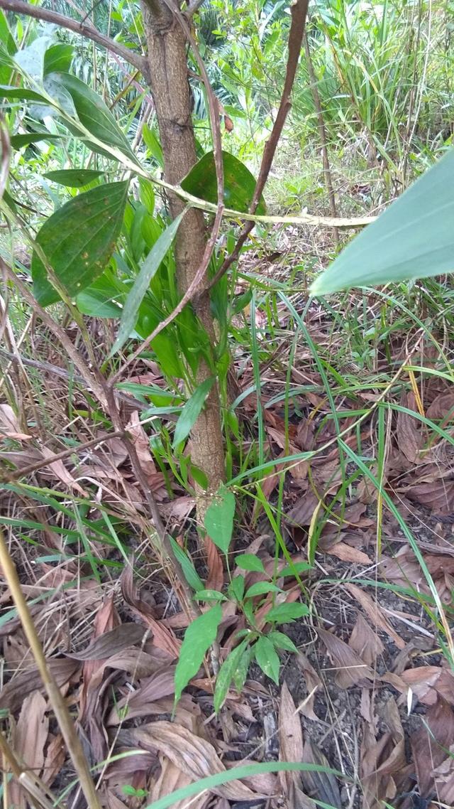
M31 3L25 0L0 0L0 8L4 11L13 11L15 14L24 14L27 17L34 17L35 19L44 19L47 23L55 23L60 25L61 28L68 28L69 31L74 31L76 34L85 36L88 40L93 40L103 48L116 53L117 56L122 57L129 65L141 71L141 74L148 78L148 62L145 57L140 53L126 48L116 40L112 40L110 36L105 36L97 28L87 23L78 23L76 19L65 17L65 15L57 14L57 11L49 11L47 8L40 8L40 6L32 6Z

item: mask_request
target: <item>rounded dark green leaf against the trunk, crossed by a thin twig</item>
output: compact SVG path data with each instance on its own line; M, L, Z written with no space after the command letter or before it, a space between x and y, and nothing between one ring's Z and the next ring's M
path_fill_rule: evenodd
M254 196L255 178L245 164L229 152L222 152L224 165L224 204L227 208L246 214ZM181 183L183 191L207 202L217 202L216 167L213 152L208 152L195 163ZM266 214L263 196L260 197L256 214Z

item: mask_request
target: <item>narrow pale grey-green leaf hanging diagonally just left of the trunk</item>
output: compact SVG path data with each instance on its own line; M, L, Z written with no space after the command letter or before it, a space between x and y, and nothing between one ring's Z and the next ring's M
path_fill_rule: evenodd
M128 337L136 324L137 313L145 297L145 293L149 288L149 282L153 278L153 275L158 272L159 266L166 256L166 252L170 249L176 232L178 231L179 223L181 222L184 214L185 210L183 210L173 222L170 222L169 227L167 227L166 230L159 236L158 241L153 245L153 248L145 258L145 261L141 266L141 271L137 275L134 285L132 286L132 290L128 294L128 299L124 304L120 328L118 330L116 341L112 346L111 353L109 354L110 357L116 354L117 351L120 351L120 348L124 345L124 342L128 340Z

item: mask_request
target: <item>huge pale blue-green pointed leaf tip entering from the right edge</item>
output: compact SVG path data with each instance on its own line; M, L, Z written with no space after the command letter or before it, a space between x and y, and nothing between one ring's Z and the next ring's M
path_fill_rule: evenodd
M311 294L454 270L454 149L347 245Z

